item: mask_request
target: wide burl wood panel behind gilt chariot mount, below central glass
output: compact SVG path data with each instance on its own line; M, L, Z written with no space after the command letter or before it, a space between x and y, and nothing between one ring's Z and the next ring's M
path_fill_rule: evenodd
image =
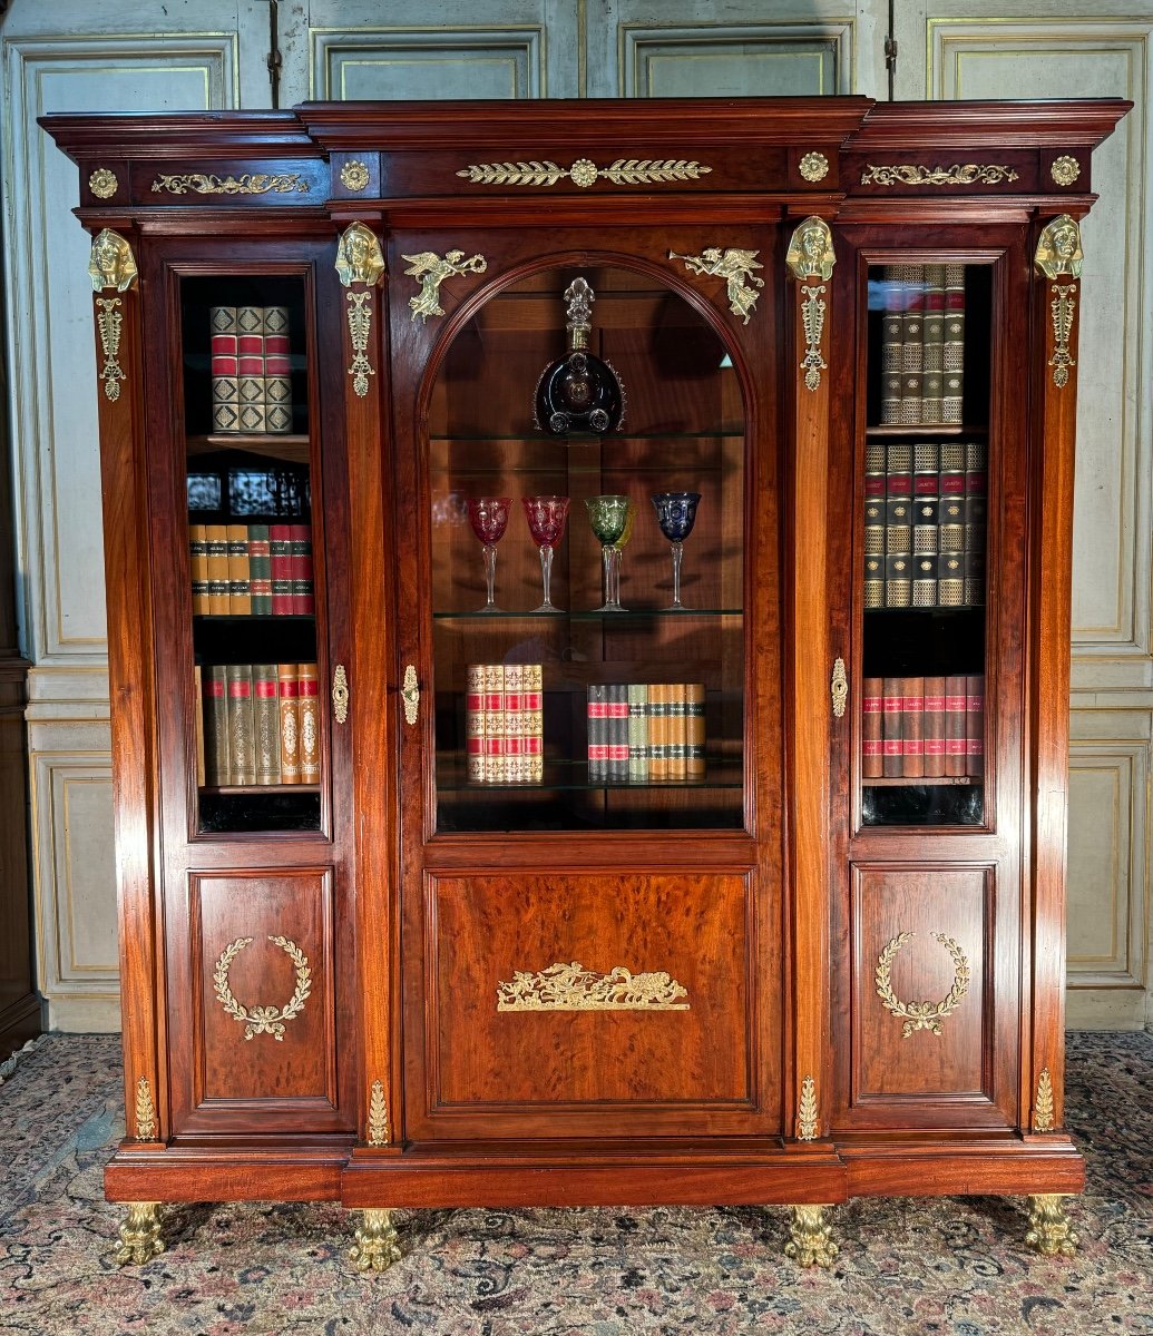
M429 880L429 1043L441 1105L742 1102L752 1096L741 876ZM663 970L684 1011L498 1011L498 986L578 961Z

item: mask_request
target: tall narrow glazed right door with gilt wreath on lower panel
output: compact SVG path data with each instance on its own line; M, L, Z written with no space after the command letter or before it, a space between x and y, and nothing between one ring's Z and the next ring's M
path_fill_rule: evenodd
M844 1130L1018 1124L1027 941L1022 223L845 227L852 449L832 529Z

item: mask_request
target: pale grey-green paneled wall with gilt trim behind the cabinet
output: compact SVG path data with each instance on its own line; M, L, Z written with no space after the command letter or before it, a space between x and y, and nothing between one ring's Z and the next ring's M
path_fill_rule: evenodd
M885 0L280 0L280 104L887 90ZM1149 982L1153 0L896 5L902 98L1117 94L1085 228L1070 835L1071 1023L1141 1025ZM3 188L40 985L118 1023L95 371L75 168L45 111L270 106L266 0L12 0ZM1124 15L1124 16L1122 16ZM1142 17L1146 16L1146 17ZM591 108L590 108L591 112ZM595 114L595 112L593 112ZM51 293L45 301L44 294Z

